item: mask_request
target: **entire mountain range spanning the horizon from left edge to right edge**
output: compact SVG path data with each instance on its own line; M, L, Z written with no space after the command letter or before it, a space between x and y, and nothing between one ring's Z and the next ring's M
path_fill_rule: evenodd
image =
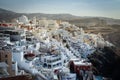
M81 16L74 16L71 14L44 14L44 13L16 13L13 11L5 10L0 8L0 21L11 21L14 18L18 18L22 15L26 15L29 19L36 16L37 18L47 18L47 19L56 19L56 20L66 20L73 24L88 24L88 23L98 23L100 21L104 21L107 24L119 24L120 19L112 19L112 18L105 18L105 17L81 17Z

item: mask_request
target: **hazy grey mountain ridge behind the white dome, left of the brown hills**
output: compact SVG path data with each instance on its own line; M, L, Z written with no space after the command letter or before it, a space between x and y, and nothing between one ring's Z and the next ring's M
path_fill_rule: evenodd
M13 11L5 10L0 8L0 21L11 21L14 18L18 18L22 15L26 15L28 18L47 18L47 19L56 19L56 20L72 20L78 19L78 16L73 16L71 14L44 14L44 13L16 13Z

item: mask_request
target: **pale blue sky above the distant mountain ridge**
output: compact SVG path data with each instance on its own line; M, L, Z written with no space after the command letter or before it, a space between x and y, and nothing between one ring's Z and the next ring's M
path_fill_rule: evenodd
M0 0L0 8L19 13L68 13L120 19L120 0Z

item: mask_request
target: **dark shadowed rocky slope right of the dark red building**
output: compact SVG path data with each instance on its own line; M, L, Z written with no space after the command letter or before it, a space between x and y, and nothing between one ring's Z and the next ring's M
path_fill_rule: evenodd
M88 56L93 65L94 73L112 80L120 79L120 56L115 47L104 47Z

